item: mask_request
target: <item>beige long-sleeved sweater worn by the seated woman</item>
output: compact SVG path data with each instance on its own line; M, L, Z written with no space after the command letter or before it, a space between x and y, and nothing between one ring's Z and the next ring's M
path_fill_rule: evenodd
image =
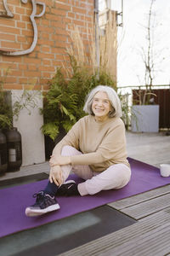
M89 165L94 172L127 161L125 127L120 118L96 122L94 116L79 119L67 135L55 146L53 154L60 154L65 145L82 152L71 156L72 165Z

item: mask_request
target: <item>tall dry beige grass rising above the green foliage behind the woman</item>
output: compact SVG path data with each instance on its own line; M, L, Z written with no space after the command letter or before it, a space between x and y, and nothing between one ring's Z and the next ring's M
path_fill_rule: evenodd
M95 19L94 19L95 20ZM92 73L98 69L95 43L95 22L88 23L81 32L78 26L71 26L69 37L71 45L66 49L67 54L74 58L78 67L89 68ZM86 35L86 38L85 38ZM99 35L99 72L108 73L116 81L116 13L109 11L105 34ZM71 68L65 67L70 77Z

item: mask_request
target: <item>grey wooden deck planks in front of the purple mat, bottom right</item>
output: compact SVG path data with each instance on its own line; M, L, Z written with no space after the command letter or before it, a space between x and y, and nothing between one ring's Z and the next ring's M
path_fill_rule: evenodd
M170 185L109 206L138 222L59 256L163 256L170 253Z

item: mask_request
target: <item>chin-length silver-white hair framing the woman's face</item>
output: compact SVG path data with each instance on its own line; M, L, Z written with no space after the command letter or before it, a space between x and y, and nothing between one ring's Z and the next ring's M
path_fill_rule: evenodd
M89 92L86 102L84 104L84 108L83 108L84 112L94 115L92 110L92 103L93 103L94 95L99 91L105 92L111 102L111 111L108 114L109 117L110 118L122 117L121 101L116 94L116 90L114 90L112 87L107 85L98 85Z

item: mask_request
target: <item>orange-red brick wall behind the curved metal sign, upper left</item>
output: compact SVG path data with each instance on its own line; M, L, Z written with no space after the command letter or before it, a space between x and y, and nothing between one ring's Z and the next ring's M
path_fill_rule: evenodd
M26 1L25 1L26 2ZM79 27L84 41L88 40L87 27L93 27L94 0L42 0L46 10L42 17L35 17L37 44L27 55L0 54L0 76L5 75L5 90L47 90L48 80L54 76L57 67L68 61L65 48L71 44L69 32L72 25ZM35 0L23 3L21 0L7 0L13 18L0 16L1 50L19 51L29 49L33 41L33 27L30 19ZM3 1L0 14L4 12ZM37 15L42 6L37 5Z

